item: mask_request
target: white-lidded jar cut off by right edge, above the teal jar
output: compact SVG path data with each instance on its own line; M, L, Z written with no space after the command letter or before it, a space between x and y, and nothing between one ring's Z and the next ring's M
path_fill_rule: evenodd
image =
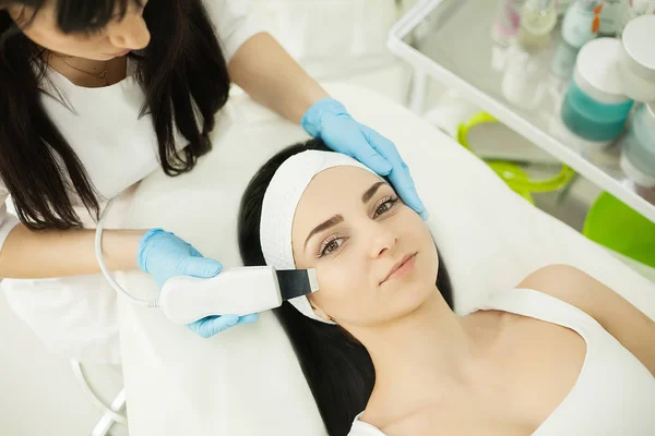
M628 23L621 46L623 92L635 101L655 101L655 15L642 15Z

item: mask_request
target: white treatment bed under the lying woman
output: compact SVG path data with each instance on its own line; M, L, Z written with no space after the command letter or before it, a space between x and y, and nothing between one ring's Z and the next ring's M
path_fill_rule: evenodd
M527 204L483 162L395 102L369 90L329 86L360 121L395 142L426 203L429 225L466 313L491 292L551 263L580 267L655 318L655 286L574 230ZM237 213L260 166L306 138L299 126L246 96L230 100L214 150L190 174L144 180L127 228L163 227L226 266L240 264ZM141 272L121 276L156 295ZM121 299L122 300L122 299ZM324 433L293 350L274 316L210 340L155 310L121 304L121 342L130 434L321 435Z

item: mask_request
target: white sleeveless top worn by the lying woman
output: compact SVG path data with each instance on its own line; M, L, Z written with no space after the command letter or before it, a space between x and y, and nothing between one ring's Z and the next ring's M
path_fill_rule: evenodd
M586 342L577 382L533 436L655 435L655 377L593 317L563 301L527 289L495 294L480 310L510 312L557 324L576 331ZM434 428L434 434L439 434L439 428ZM358 415L348 436L384 434L359 421Z

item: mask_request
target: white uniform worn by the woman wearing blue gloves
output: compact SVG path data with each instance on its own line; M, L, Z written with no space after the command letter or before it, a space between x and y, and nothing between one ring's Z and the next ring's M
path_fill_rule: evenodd
M249 16L246 0L205 0L205 7L227 60L246 40L262 32ZM145 95L130 76L131 66L128 64L127 78L100 88L75 86L49 70L50 78L74 110L52 97L41 97L48 114L105 198L119 195L159 168L152 119L150 114L139 116ZM182 147L186 141L176 144ZM8 195L0 182L0 250L19 222L7 213ZM81 206L81 202L74 203ZM86 210L83 207L76 207L76 210L84 226L93 228L94 221ZM116 216L114 210L111 215ZM84 362L120 362L116 291L100 275L45 280L5 279L2 288L14 312L51 351Z

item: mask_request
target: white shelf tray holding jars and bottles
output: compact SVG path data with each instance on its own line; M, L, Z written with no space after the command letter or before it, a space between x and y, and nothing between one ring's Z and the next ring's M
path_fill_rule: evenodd
M559 108L569 77L550 73L556 53L567 52L559 27L552 33L551 44L538 52L523 52L513 44L500 45L491 38L497 5L498 1L490 0L419 1L392 27L389 48L417 72L461 92L510 129L655 222L655 192L635 186L626 178L619 166L618 147L590 145L560 121ZM574 60L574 52L569 56ZM512 76L508 77L510 69ZM522 71L525 74L517 76ZM522 90L540 97L527 105L515 99Z

